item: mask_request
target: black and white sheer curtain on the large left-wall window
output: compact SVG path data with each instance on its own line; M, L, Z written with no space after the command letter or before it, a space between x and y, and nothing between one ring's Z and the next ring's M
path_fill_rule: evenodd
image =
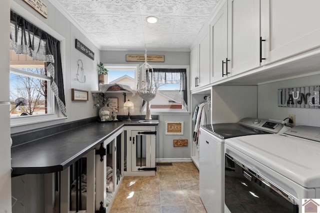
M11 11L10 49L16 54L26 54L34 60L46 62L51 77L51 90L59 109L66 116L60 41Z

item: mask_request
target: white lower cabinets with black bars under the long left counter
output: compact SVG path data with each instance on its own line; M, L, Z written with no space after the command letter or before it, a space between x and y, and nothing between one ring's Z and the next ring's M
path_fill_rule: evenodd
M44 176L45 213L110 210L123 176L122 135L119 129L65 170Z

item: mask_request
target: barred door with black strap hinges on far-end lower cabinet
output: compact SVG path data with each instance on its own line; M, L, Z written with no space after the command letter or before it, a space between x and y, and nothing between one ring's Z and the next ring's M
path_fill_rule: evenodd
M154 168L154 145L155 145L155 137L154 135L144 135L140 134L138 131L131 131L131 171L143 171L146 168Z

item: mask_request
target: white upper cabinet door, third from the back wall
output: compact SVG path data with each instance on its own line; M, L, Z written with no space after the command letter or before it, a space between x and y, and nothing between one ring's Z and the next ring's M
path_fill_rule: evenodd
M225 64L227 58L227 2L223 4L210 23L210 32L210 52L212 53L210 82L213 83L227 77L225 75L227 74Z

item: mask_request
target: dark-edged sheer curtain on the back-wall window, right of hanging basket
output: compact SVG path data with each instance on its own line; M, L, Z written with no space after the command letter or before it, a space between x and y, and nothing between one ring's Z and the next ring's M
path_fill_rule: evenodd
M188 111L187 106L187 83L186 83L186 69L167 69L167 68L153 68L154 80L158 84L180 84L180 91L182 91L182 105L185 111ZM153 76L149 76L153 78ZM142 104L142 106L144 103ZM142 107L143 109L144 107Z

